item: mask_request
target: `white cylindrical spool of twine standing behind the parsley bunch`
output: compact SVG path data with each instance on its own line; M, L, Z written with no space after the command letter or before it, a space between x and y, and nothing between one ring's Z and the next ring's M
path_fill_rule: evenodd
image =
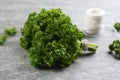
M85 32L87 34L97 34L102 30L104 10L99 8L91 8L86 12Z

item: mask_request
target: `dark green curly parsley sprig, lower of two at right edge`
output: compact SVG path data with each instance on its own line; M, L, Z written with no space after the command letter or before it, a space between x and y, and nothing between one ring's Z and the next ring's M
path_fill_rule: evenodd
M120 58L120 40L114 40L112 44L109 45L109 49L115 52L117 58Z

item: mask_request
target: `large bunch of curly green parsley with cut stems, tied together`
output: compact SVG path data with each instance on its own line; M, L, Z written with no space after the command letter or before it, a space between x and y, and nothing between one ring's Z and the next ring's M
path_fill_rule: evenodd
M35 67L66 67L83 54L84 34L59 8L29 14L21 34L20 45L29 50ZM96 52L96 45L90 45L90 51Z

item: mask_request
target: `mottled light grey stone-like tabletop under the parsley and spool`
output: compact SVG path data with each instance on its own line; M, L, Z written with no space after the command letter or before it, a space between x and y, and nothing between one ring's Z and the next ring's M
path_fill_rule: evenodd
M20 47L20 28L28 14L41 8L61 8L79 29L84 28L86 10L105 10L104 31L94 37L86 37L98 43L96 54L79 57L71 66L61 69L36 69L27 58L27 51ZM0 0L0 34L4 28L16 26L19 31L0 46L0 80L119 80L120 60L108 54L108 45L120 39L112 30L120 21L120 0Z

